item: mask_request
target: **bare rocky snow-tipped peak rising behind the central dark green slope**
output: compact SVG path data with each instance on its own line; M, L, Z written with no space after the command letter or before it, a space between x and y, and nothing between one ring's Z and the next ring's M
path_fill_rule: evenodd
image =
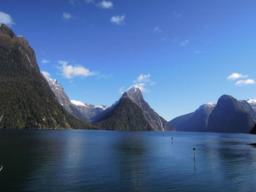
M143 111L144 117L154 131L176 131L176 129L170 123L151 109L149 104L144 100L140 89L136 85L133 85L131 88L129 88L129 90L124 92L121 99L125 98L129 98L131 101L137 104L138 107L140 107L140 109Z

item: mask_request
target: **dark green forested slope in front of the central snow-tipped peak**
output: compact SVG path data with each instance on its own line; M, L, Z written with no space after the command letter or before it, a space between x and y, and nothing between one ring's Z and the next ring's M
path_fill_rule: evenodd
M116 107L97 124L117 131L153 131L140 107L128 98L120 99Z

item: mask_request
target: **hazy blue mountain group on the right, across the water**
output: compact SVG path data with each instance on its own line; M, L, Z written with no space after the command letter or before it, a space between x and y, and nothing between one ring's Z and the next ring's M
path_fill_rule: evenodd
M223 95L217 104L203 104L195 112L170 120L177 131L249 133L256 121L255 101Z

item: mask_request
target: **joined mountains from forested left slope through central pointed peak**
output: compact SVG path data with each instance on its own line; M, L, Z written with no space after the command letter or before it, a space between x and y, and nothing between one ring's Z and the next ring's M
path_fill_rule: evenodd
M109 107L70 101L59 82L39 72L29 42L4 24L0 55L0 128L175 131L149 107L137 87Z

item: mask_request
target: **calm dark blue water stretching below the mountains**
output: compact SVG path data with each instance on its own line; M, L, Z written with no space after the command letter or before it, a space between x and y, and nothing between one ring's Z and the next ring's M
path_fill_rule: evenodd
M255 135L0 130L0 191L256 191L250 142Z

